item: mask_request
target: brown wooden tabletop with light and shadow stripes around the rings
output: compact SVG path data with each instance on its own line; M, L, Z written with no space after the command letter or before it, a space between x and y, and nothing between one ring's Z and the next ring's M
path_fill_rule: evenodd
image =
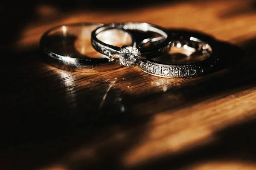
M256 169L255 1L62 2L2 2L1 170ZM213 36L222 66L167 79L42 60L53 26L127 21Z

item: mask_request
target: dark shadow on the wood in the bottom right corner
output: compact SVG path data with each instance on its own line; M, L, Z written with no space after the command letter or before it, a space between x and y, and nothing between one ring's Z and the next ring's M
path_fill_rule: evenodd
M215 132L214 142L183 150L180 153L162 155L151 159L134 169L192 169L193 166L214 164L216 168L243 164L245 167L254 167L256 160L256 119L231 125ZM224 163L224 164L223 164Z

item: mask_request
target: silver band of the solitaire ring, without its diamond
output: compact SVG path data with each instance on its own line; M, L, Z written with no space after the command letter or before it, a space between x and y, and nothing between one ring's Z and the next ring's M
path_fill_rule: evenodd
M155 55L156 53L164 53L164 51L168 50L167 48L169 47L168 31L164 28L149 23L111 23L96 28L92 32L91 36L93 48L106 56L119 58L120 54L120 47L106 44L96 37L97 34L108 29L137 30L143 32L151 31L160 34L161 37L164 37L164 40L156 45L140 48L140 53L142 55L144 54L145 57L152 56L153 54ZM135 47L136 43L134 43L132 46Z

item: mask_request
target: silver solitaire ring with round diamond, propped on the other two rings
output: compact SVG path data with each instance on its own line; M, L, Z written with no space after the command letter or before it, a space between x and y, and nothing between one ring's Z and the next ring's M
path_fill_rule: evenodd
M160 37L163 37L163 41L155 45L142 48L136 46L136 43L134 43L133 46L117 47L114 45L104 43L97 38L97 35L100 32L109 29L136 30L143 32L150 31L153 33L160 34ZM150 58L155 55L160 55L167 51L169 39L168 31L166 29L149 23L111 23L96 28L92 32L91 43L96 51L109 57L119 58L120 64L122 65L125 65L127 67L134 67L140 64L141 59Z

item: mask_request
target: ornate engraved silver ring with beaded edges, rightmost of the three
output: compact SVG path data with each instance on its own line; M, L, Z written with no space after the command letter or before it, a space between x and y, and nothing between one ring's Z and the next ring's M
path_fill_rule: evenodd
M169 42L170 50L172 48L180 48L183 50L190 49L190 54L187 54L187 57L191 57L191 54L193 54L191 51L194 51L201 53L205 59L198 62L182 64L159 62L153 59L142 59L139 67L143 72L157 77L186 79L199 77L213 70L218 62L216 41L213 38L186 32L172 34L172 36L170 35L172 40ZM152 45L154 45L157 41L162 40L163 38L160 37L148 38L143 40L143 42L140 43L140 46L143 46L148 42L151 42Z

